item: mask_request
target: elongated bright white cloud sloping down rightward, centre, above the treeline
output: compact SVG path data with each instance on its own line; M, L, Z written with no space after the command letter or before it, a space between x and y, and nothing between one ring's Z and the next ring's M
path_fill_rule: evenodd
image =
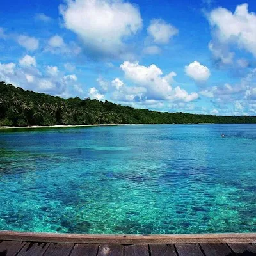
M174 89L172 88L170 77L175 76L175 72L163 76L162 70L154 64L145 67L139 65L138 62L131 63L129 61L124 61L120 68L124 71L127 79L147 90L146 93L140 95L140 98L143 100L191 101L198 98L197 93L189 94L179 86Z

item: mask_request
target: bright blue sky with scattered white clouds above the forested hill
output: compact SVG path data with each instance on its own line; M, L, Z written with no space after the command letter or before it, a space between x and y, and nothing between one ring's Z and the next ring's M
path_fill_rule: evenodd
M0 80L134 108L256 115L256 1L9 0Z

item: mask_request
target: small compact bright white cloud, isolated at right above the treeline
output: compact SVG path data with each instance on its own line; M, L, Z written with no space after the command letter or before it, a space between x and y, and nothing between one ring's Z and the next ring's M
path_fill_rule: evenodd
M193 78L196 82L205 82L211 76L209 68L201 65L198 61L185 66L186 75Z

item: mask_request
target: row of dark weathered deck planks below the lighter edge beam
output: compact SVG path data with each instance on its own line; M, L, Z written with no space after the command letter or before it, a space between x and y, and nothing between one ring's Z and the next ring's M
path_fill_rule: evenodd
M71 244L2 241L0 256L234 256L256 255L255 243Z

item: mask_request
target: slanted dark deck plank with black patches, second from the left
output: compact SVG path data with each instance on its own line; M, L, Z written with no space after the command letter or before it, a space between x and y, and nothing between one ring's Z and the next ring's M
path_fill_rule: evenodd
M42 256L49 247L49 245L49 243L26 243L17 255Z

